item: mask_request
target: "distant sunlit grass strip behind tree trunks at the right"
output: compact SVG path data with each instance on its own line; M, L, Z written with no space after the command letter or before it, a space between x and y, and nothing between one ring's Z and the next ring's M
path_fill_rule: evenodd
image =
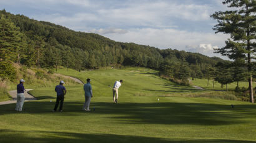
M226 85L224 85L223 88L220 88L221 84L218 82L214 82L214 87L213 87L213 83L212 80L209 80L209 85L207 86L207 79L195 79L191 81L192 85L195 86L200 86L206 90L226 90ZM233 82L227 85L228 90L235 90L235 87L237 86L237 82ZM245 81L240 81L239 82L239 87L248 88L249 87L249 82L245 82ZM253 86L256 86L255 83L253 83Z

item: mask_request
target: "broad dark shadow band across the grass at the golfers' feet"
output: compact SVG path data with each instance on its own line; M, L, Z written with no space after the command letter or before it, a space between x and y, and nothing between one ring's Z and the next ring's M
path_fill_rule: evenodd
M54 102L24 103L24 114L51 114L49 116L84 116L81 101L64 101L64 112L51 113ZM22 114L14 111L15 104L1 105L0 118L4 114ZM192 125L227 125L249 122L247 118L256 118L255 105L244 104L202 104L202 103L105 103L92 102L89 116L109 118L121 124L192 124Z

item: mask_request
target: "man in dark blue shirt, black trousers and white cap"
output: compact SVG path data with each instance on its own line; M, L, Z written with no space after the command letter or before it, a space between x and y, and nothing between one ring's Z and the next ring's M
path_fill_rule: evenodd
M67 93L67 90L66 90L65 86L63 86L63 85L64 85L64 81L60 81L59 85L56 85L56 87L55 87L55 91L57 93L57 98L56 98L55 107L52 110L53 112L55 112L56 109L58 108L59 101L61 101L61 105L59 106L59 111L62 112L62 106L63 106L63 102L64 102L64 95L66 95L66 93Z

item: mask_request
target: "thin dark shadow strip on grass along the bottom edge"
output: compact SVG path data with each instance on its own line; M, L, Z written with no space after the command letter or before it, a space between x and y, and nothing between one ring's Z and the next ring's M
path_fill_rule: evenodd
M115 134L84 134L51 131L13 131L0 130L0 142L163 142L163 143L255 143L229 139L162 139L157 137L125 136Z

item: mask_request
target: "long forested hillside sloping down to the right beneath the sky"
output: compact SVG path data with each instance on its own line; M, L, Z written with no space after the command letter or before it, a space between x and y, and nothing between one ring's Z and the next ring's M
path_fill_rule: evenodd
M0 11L2 65L7 61L28 67L64 67L83 70L106 66L153 68L177 79L207 76L221 58L200 53L115 42L99 34L76 32L61 25ZM4 76L1 76L3 78Z

